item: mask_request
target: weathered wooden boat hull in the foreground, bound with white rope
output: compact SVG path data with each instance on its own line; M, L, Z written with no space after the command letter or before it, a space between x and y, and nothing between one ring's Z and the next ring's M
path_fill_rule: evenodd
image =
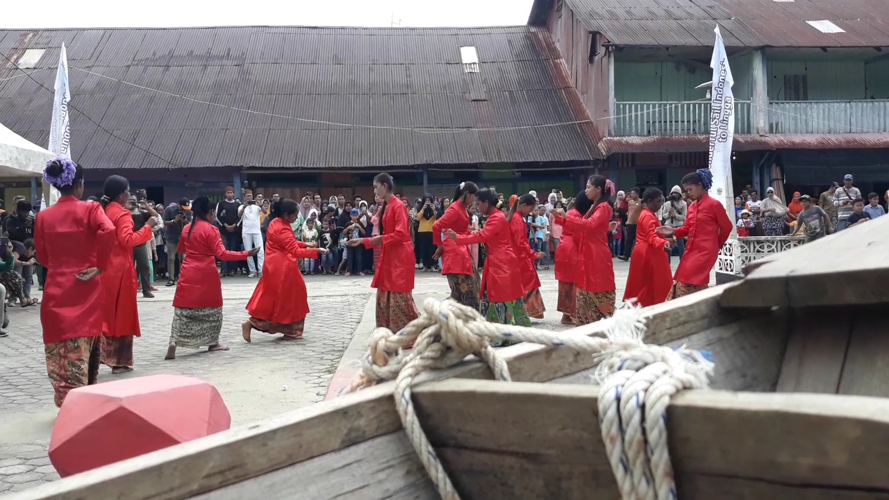
M669 407L687 499L889 499L889 399L773 393L792 310L720 305L736 283L647 308L646 342L712 351L712 386ZM605 323L574 329L601 335ZM465 500L617 499L589 353L518 344L516 381L467 360L420 376L420 421ZM798 370L797 370L798 371ZM556 382L541 384L545 382ZM392 383L25 491L15 500L437 498L396 414ZM742 391L742 392L733 392Z

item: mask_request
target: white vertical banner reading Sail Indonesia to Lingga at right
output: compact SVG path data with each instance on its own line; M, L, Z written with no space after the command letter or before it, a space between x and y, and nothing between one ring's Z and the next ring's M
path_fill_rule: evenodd
M710 102L710 156L709 169L713 173L711 197L725 206L729 220L734 222L734 195L732 192L732 141L734 137L734 96L732 94L732 69L728 65L722 34L719 26L715 29L716 44L713 45L713 86ZM733 231L734 232L734 231Z

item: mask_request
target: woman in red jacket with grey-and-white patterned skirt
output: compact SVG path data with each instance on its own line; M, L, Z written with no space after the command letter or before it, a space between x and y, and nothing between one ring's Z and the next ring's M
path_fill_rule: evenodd
M188 210L188 206L182 208ZM222 282L216 270L220 261L244 261L259 253L260 247L247 252L231 252L222 245L220 231L213 226L216 212L207 197L197 197L191 204L195 219L182 228L177 250L185 255L179 273L179 285L172 299L175 308L170 328L170 347L164 359L176 358L176 347L207 351L228 351L220 344L222 331Z

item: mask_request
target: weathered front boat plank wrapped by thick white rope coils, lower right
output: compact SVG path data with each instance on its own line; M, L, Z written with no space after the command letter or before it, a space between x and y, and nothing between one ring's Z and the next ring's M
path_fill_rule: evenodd
M453 379L418 387L414 401L465 499L618 500L598 391ZM723 498L727 485L745 500L889 495L887 399L689 391L668 423L682 500Z

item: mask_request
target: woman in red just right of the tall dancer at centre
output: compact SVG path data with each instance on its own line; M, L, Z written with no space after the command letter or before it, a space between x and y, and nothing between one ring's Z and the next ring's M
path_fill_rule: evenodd
M442 238L445 230L459 235L469 234L469 206L476 201L478 186L473 182L461 182L453 194L453 203L445 215L432 224L432 238L438 250L432 257L442 259L442 274L451 286L451 298L478 310L478 272L472 262L469 246L457 245L450 238Z

